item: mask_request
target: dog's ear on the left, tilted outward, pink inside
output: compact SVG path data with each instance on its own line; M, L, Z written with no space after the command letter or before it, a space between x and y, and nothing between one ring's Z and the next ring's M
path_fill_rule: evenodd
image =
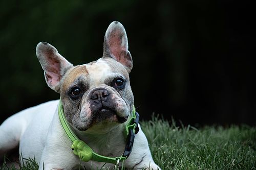
M57 49L47 42L39 42L36 46L36 56L45 71L48 86L59 92L61 78L73 64L62 57Z

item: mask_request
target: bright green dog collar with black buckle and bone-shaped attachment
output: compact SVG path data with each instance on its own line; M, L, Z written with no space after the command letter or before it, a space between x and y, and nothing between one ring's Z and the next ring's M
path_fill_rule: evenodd
M139 114L135 111L135 108L133 106L133 113L132 117L129 119L129 122L125 126L124 135L126 136L126 147L125 151L122 156L120 157L106 157L99 155L95 153L89 145L87 145L84 141L80 140L75 133L72 131L72 129L69 126L69 123L67 122L66 116L63 111L63 105L61 100L59 100L59 106L58 106L58 114L60 123L62 125L63 130L65 131L66 135L69 137L69 139L72 141L71 149L73 150L74 154L77 155L82 161L88 162L89 160L97 161L97 162L107 162L107 163L113 163L118 164L119 161L125 160L130 153L132 152L133 148L133 141L134 141L134 134L137 134L139 131Z

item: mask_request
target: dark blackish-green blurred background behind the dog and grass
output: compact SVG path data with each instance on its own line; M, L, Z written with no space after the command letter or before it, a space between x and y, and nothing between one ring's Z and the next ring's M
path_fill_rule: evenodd
M97 60L109 24L126 29L142 119L255 125L255 23L249 1L0 1L0 123L58 99L35 56L46 41L74 65Z

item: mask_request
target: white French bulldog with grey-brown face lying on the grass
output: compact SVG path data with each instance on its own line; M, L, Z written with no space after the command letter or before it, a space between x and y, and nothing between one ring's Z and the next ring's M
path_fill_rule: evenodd
M46 42L37 44L36 56L48 86L60 94L60 100L25 109L6 119L0 126L1 155L19 144L19 154L35 158L39 169L113 168L122 164L129 169L160 169L138 122L134 124L137 134L128 135L130 143L124 135L134 111L129 80L133 60L120 22L112 22L106 30L103 56L97 61L73 66ZM81 148L72 151L74 143L61 123L60 106L70 131L94 155L120 157L133 143L130 155L116 159L115 164L90 158L82 161L86 156L82 156Z

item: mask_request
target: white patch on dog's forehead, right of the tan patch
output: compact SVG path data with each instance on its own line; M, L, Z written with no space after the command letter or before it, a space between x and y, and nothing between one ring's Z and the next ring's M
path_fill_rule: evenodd
M106 63L103 59L99 59L93 64L86 64L90 84L92 86L98 86L104 83L104 80L111 74L111 68L108 63Z

